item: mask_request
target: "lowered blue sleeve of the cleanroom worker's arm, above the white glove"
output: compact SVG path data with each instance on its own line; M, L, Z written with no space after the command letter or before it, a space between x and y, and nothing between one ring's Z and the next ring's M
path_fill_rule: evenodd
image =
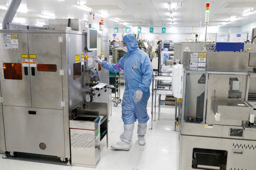
M149 86L152 81L153 67L148 57L145 57L145 59L142 60L140 64L141 64L141 71L143 76L142 76L142 82L139 84L138 90L142 92L146 92L149 90Z

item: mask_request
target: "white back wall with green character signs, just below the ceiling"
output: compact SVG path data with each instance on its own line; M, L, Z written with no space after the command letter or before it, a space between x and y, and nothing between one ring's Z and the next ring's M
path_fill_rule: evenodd
M254 23L256 27L256 22ZM254 26L244 25L243 27L216 27L216 26L208 26L207 28L207 41L209 42L243 42L247 40L247 32L243 32L244 30L251 29ZM164 26L163 26L164 27ZM195 34L199 35L199 41L204 41L205 39L205 27L194 27L193 37L192 37L192 27L164 27L166 28L166 33L162 33L162 27L153 27L154 32L149 33L150 27L141 27L141 33L139 35L140 39L147 39L149 41L154 39L166 39L173 40L175 42L185 41L187 39L192 39L195 41ZM109 38L114 39L112 36L114 33L114 27L108 28ZM137 33L138 27L131 27L130 33ZM252 32L252 31L251 31ZM118 33L116 33L116 40L123 40L124 33L123 27L118 27ZM241 34L241 37L236 37L236 34ZM249 33L249 38L251 38L252 33ZM217 38L216 38L217 36Z

